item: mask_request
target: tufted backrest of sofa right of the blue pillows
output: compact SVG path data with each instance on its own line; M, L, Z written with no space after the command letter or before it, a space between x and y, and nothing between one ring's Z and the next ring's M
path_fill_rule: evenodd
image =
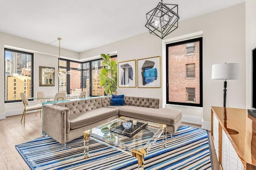
M160 99L156 98L124 96L124 104L130 106L150 107L159 109L159 101Z

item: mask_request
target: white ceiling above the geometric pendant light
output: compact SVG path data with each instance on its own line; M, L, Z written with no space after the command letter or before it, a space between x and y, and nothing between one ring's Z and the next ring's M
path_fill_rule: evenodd
M187 20L245 0L163 0ZM0 0L0 32L82 52L144 33L160 0ZM154 36L154 35L152 35Z

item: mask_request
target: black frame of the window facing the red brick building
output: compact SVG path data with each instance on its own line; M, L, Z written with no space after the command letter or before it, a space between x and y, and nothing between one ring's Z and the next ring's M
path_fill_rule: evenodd
M182 45L186 43L193 43L199 41L199 80L200 80L200 102L199 104L193 102L170 102L169 101L169 47ZM185 53L185 57L186 57ZM184 63L185 64L185 63ZM195 106L203 107L203 37L188 39L185 41L178 41L166 44L166 104L182 105L182 106Z

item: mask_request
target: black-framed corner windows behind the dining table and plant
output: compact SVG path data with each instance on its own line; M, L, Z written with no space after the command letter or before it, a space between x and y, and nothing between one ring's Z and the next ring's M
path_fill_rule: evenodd
M117 56L111 60L117 61ZM59 78L59 90L66 90L69 94L78 94L84 90L90 90L90 96L104 96L104 89L100 86L99 73L104 66L102 59L78 63L62 60L60 68L70 70L71 74L62 75Z

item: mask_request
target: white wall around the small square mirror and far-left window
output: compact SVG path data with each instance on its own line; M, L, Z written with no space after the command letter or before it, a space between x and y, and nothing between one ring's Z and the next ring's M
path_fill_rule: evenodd
M4 73L4 46L11 46L14 49L22 49L34 53L34 95L38 90L45 90L47 95L54 95L58 92L57 74L55 74L54 87L39 87L39 66L58 69L58 47L0 32L0 72L2 73ZM61 49L61 57L79 59L79 53ZM4 82L4 74L0 74L0 80ZM0 91L2 94L2 98L0 98L0 119L4 119L5 115L21 114L22 102L4 104L4 83L0 83Z

